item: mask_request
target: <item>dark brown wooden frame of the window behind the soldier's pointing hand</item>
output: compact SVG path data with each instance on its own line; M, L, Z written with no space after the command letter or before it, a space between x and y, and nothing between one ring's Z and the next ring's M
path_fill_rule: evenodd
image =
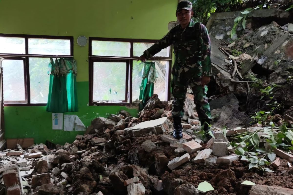
M92 41L112 41L112 42L130 42L130 56L96 56L92 55ZM121 39L121 38L103 38L103 37L89 37L88 38L88 83L89 83L89 106L130 106L132 103L132 65L133 60L137 60L139 56L133 55L133 43L156 43L158 40L155 39ZM166 72L166 82L168 83L167 100L171 98L171 66L172 66L172 51L173 47L170 46L169 57L152 57L149 60L161 60L169 61L169 67ZM120 103L102 103L93 101L93 63L101 61L128 61L128 69L126 70L126 89L125 89L125 100L126 102Z

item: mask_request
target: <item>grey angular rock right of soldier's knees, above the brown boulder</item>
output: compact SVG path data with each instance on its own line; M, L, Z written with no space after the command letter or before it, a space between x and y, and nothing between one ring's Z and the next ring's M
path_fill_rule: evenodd
M209 107L211 110L222 108L223 106L227 106L227 105L231 105L233 108L239 107L239 101L233 93L218 97L216 99L212 99L209 102Z

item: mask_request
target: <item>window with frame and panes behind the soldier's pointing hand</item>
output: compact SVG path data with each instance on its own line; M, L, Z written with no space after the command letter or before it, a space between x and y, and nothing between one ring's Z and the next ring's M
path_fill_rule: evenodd
M156 40L89 37L89 105L132 103L139 98L143 64L137 59ZM168 100L171 47L162 49L155 61L154 93Z

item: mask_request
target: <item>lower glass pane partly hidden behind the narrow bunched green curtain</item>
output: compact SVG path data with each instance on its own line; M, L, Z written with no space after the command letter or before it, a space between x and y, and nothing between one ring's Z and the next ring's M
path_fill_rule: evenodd
M154 94L158 94L159 99L166 100L166 67L169 61L155 61L157 79L154 84ZM139 98L140 85L142 83L143 63L133 61L132 63L132 101Z

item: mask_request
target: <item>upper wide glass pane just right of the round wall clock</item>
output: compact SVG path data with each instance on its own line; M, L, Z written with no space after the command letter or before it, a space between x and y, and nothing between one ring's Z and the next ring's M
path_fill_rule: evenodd
M130 57L130 42L92 41L92 55Z

